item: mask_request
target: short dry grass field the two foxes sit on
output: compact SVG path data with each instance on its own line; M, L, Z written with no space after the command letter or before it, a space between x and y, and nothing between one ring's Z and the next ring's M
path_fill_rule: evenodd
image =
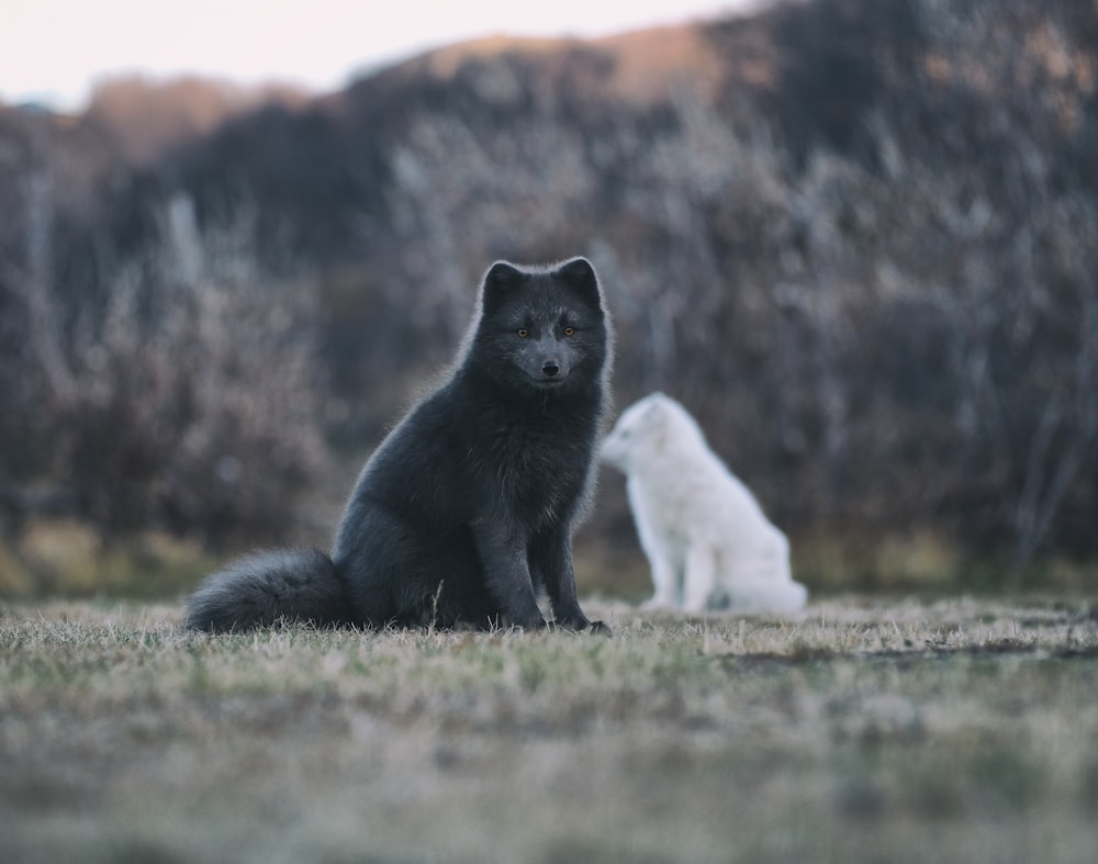
M1094 599L586 606L612 639L8 606L0 857L1094 860Z

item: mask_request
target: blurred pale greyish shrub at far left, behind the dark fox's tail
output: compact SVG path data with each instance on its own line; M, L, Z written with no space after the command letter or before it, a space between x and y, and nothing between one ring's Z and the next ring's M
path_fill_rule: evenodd
M159 244L99 302L63 305L33 269L20 287L25 377L7 395L35 485L9 512L38 490L107 537L281 536L326 452L315 292L261 274L246 211L205 232L184 197L158 215Z

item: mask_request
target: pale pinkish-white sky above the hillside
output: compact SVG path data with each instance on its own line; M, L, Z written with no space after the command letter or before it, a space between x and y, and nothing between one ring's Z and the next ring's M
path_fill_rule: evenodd
M0 101L79 110L98 80L199 74L326 92L356 72L495 34L604 36L746 0L5 0Z

